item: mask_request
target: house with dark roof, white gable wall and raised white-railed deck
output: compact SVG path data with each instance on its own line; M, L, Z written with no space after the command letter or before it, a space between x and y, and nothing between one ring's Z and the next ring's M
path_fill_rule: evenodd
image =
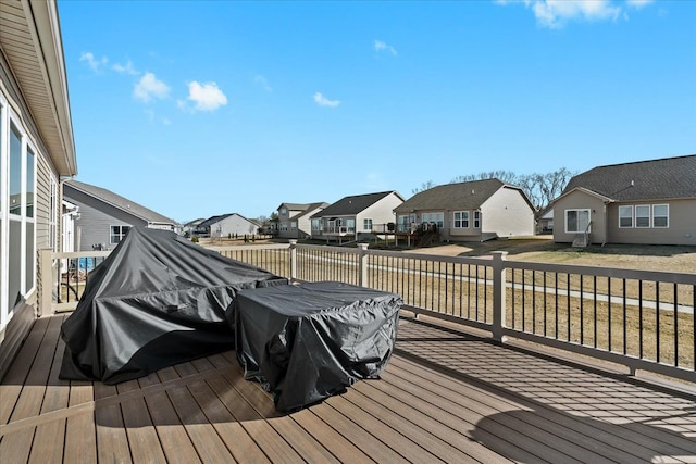
M402 202L394 190L344 197L311 216L312 238L343 242L382 234Z

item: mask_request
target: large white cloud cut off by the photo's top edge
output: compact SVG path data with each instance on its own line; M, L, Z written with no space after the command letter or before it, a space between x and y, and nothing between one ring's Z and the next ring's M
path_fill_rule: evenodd
M522 3L534 12L537 24L561 28L569 21L617 21L626 8L642 9L654 0L496 0L501 5Z

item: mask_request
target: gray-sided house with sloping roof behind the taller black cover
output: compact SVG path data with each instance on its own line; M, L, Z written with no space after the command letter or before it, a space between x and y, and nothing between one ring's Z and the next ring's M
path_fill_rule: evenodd
M101 187L71 179L63 196L79 211L74 221L77 251L110 250L130 227L177 230L176 221Z

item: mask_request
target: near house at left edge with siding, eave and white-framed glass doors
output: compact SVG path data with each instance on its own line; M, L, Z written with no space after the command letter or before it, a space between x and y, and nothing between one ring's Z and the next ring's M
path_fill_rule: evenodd
M0 378L48 311L37 254L60 251L60 185L76 174L55 1L0 1Z

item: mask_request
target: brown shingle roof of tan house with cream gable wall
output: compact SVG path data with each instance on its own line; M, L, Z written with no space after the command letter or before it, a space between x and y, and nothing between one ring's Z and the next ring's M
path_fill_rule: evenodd
M499 179L445 184L415 193L395 209L396 212L424 210L475 210L506 184ZM513 188L518 188L511 186Z

